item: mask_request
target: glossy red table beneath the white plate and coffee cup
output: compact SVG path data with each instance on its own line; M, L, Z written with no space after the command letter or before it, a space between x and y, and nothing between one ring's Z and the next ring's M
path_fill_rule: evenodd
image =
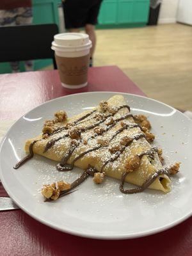
M17 119L49 99L77 92L114 91L144 95L117 67L89 70L89 86L61 88L57 71L0 76L0 120ZM6 193L0 185L0 196ZM71 236L33 220L21 210L0 212L0 255L192 255L192 218L159 234L122 241Z

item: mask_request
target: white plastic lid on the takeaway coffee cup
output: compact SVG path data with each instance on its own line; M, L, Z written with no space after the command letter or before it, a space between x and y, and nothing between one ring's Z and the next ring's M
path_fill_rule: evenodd
M83 49L84 47L92 47L89 36L84 33L61 33L54 35L52 49Z

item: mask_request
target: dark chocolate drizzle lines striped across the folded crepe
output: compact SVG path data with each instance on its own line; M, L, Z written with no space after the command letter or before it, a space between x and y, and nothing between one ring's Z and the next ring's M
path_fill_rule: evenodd
M127 108L129 111L130 111L130 108L129 106L127 105L122 105L122 106L119 106L118 108L114 108L112 110L113 113L109 113L108 115L106 116L103 116L103 118L101 120L99 120L98 122L94 122L93 124L91 125L88 125L88 127L82 127L80 128L80 132L86 132L90 129L93 129L95 127L97 127L98 125L104 123L106 121L106 119L110 116L114 116L120 109L122 108ZM86 121L90 121L90 120L94 120L95 117L97 116L93 116L92 118L88 118L88 116L91 116L93 113L95 113L97 111L97 109L94 109L93 111L91 111L90 113L87 113L86 115L84 116L81 116L81 118L78 118L77 120L75 120L74 122L72 122L72 125L76 126L76 125L81 125L81 123L84 123ZM111 125L108 125L106 128L104 128L104 130L102 132L100 132L100 134L93 134L92 136L90 136L88 138L89 139L93 139L93 138L96 138L97 136L101 135L101 134L104 134L104 132L107 132L109 131L109 129L113 128L117 122L121 121L121 120L125 120L126 118L128 117L133 117L133 115L131 113L127 113L126 115L124 116L121 116L120 118L116 118L114 121L113 121L113 124ZM88 118L86 120L86 118ZM81 122L83 121L83 122ZM115 133L111 136L110 138L110 141L113 140L120 132L124 131L125 129L129 128L129 129L132 129L134 127L140 127L139 124L123 124L122 127L120 127L120 129L118 129L117 131L115 131ZM140 127L141 128L141 127ZM67 127L59 127L58 129L56 129L52 134L57 134L59 132L62 132L62 131L65 131L67 130L68 128ZM44 152L47 152L47 150L49 150L49 148L51 148L57 141L63 139L63 138L67 138L69 137L69 134L68 133L65 133L63 134L62 136L59 136L58 138L54 138L50 141L47 142L47 144L45 145L45 150ZM131 138L131 141L128 141L126 145L122 145L120 147L120 150L118 150L117 152L115 152L115 154L113 154L113 156L111 156L102 166L100 172L103 172L104 171L104 168L106 167L106 165L108 163L113 163L114 161L116 161L116 159L118 159L118 157L120 157L120 155L124 152L125 148L128 147L133 140L139 140L140 138L145 138L145 134L141 133L141 134L136 134L135 136L133 136ZM23 159L21 159L19 161L19 163L15 164L14 168L17 169L19 168L22 164L26 163L26 161L28 161L29 159L31 159L34 155L33 153L33 145L39 140L35 140L33 141L30 145L29 145L29 154L24 157ZM61 159L61 163L59 163L57 165L57 169L61 172L63 171L68 171L68 170L72 170L74 168L74 163L76 163L76 161L78 159L81 159L81 157L85 156L86 154L90 153L90 152L93 152L95 150L99 150L100 148L102 147L108 147L108 145L97 145L93 148L89 148L88 150L85 150L84 152L82 152L81 154L79 154L79 156L75 157L71 164L67 164L67 161L68 159L70 158L70 156L72 156L74 150L76 150L77 147L79 147L79 145L81 145L81 143L83 142L82 139L76 141L76 143L71 143L70 145L70 148L68 149L68 152L63 156L63 158ZM157 148L154 147L154 148L150 148L150 150L147 150L145 152L141 152L140 154L138 154L139 157L142 157L144 155L148 155L150 158L154 159L154 154L157 152ZM128 173L127 172L124 172L122 174L122 179L121 179L121 183L120 183L120 191L122 193L125 193L125 194L132 194L132 193L139 193L141 191L143 191L144 189L148 188L148 186L150 186L150 184L152 184L152 182L154 182L154 180L157 179L157 177L159 177L159 175L162 175L162 174L166 174L168 175L168 167L166 168L163 168L161 170L158 170L156 173L154 173L151 177L149 177L144 183L142 186L138 187L138 188L134 188L134 189L124 189L124 182L125 182L125 178L127 177ZM72 189L76 188L79 184L81 184L84 180L86 180L88 178L89 175L94 175L94 173L96 173L97 170L95 168L93 168L92 166L88 166L88 168L86 170L84 170L84 172L81 174L81 176L76 179L74 182L72 182L71 184L71 188L70 189L67 189L66 191L62 191L60 196L65 196L65 195L68 195L68 193L72 193ZM71 192L70 192L71 191Z

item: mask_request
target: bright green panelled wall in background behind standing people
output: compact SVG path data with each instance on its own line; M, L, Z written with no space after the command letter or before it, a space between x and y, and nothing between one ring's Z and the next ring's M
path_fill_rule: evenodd
M149 1L103 0L97 28L145 26L148 20ZM33 0L33 24L59 24L58 4L60 3L61 0ZM38 70L51 64L52 60L35 60L34 68ZM22 61L20 62L20 70L24 71ZM12 72L9 63L0 63L0 74L9 72Z

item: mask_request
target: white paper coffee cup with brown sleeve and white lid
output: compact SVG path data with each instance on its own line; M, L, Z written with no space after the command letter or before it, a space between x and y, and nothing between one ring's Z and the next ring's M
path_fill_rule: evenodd
M84 33L62 33L54 36L51 49L55 51L61 84L76 89L87 85L92 42Z

